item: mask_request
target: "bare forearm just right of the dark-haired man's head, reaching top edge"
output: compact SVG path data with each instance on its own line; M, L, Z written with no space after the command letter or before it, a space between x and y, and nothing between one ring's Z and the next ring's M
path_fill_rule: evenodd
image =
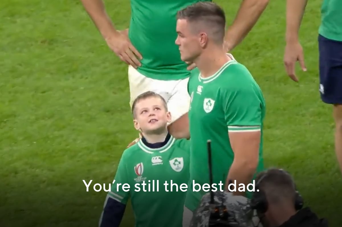
M269 0L243 0L232 26L225 35L224 48L232 51L257 23Z

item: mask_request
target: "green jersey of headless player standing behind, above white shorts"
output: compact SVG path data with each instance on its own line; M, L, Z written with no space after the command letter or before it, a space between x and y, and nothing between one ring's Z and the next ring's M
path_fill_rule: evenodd
M143 56L141 74L157 80L189 77L175 44L176 14L200 1L208 0L131 0L129 38Z

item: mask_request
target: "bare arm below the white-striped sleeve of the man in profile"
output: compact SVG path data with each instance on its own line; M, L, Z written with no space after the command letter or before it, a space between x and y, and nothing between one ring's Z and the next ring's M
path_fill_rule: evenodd
M234 161L229 169L226 187L229 180L236 180L236 190L240 187L239 184L244 184L246 187L252 182L253 175L256 172L259 163L259 147L261 132L229 132L229 140L234 152ZM247 190L247 188L246 188ZM237 196L245 196L246 192L233 192Z

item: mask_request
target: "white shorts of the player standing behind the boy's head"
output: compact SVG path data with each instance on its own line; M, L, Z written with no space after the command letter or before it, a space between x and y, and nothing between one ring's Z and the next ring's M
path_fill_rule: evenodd
M130 107L134 99L146 92L154 91L163 98L171 113L171 124L189 111L190 96L187 91L189 78L183 80L155 80L145 77L133 66L128 67L128 81L130 88Z

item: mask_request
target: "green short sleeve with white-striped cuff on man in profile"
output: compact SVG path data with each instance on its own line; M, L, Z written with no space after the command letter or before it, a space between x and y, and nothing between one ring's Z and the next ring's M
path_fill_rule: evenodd
M222 90L225 122L229 131L260 131L262 100L253 86Z

